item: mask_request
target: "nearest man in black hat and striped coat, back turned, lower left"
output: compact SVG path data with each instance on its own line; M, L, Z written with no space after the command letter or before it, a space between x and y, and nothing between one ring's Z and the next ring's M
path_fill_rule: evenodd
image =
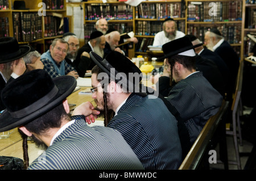
M3 89L6 110L0 115L0 132L18 127L38 146L46 148L28 169L143 169L119 132L101 126L88 127L84 116L68 116L66 98L75 87L76 79L72 76L51 78L46 71L36 69ZM88 103L84 105L82 113L93 121L98 112ZM81 114L80 110L74 112Z

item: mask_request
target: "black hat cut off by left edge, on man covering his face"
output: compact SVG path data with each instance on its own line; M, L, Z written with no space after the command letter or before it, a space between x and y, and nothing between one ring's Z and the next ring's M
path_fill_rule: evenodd
M0 64L17 60L30 52L30 46L19 45L14 37L0 37Z

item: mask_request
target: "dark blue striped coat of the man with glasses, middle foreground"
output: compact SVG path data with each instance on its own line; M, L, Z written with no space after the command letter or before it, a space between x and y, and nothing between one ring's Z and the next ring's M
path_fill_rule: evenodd
M159 98L131 94L108 127L121 132L145 169L178 169L177 120Z

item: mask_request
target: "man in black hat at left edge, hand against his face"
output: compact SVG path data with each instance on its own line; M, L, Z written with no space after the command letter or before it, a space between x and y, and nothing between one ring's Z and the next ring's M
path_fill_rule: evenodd
M6 83L13 81L26 70L23 56L30 52L28 45L20 45L14 37L0 38L0 92ZM0 100L0 110L4 110L5 105Z

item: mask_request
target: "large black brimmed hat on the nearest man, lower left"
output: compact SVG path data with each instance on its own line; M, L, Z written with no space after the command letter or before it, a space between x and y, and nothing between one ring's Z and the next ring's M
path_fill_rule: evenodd
M76 87L70 75L51 78L43 69L28 71L1 92L6 110L0 115L0 132L25 125L58 106Z

